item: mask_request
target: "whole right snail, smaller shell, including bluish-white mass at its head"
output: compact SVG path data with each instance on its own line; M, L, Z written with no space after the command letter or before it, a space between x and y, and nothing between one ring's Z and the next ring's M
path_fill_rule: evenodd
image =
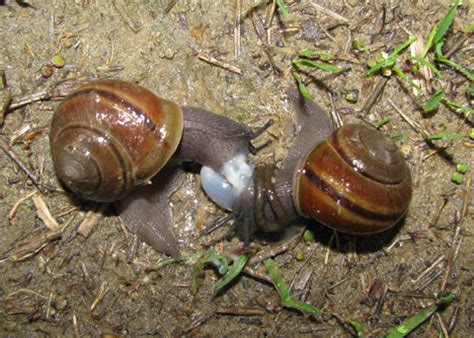
M220 171L202 168L203 189L232 211L216 225L237 217L248 247L254 231L279 232L300 217L349 234L378 233L397 224L407 213L412 184L395 143L365 125L334 130L314 101L296 90L288 96L297 135L281 168L255 168L243 189L233 188L239 175L226 170L228 163Z

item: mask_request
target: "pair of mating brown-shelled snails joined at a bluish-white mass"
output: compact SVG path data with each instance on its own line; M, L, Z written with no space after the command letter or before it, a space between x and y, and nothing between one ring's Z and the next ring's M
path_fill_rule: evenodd
M120 201L130 230L173 256L179 250L168 199L185 161L202 165L204 190L238 218L246 243L257 229L280 231L299 217L354 234L395 225L412 192L396 145L361 125L333 133L314 102L296 91L288 95L298 118L295 142L281 168L254 168L246 159L259 132L204 109L180 107L138 85L91 82L54 113L56 173L85 199Z

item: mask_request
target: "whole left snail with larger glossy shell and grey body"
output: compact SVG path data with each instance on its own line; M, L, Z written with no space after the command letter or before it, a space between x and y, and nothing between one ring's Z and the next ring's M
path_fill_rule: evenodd
M241 158L257 132L196 107L180 107L120 80L91 81L68 95L50 126L59 180L86 200L117 202L128 228L158 251L179 256L169 196L179 165L218 170ZM249 167L250 168L250 167ZM137 188L138 187L138 188Z

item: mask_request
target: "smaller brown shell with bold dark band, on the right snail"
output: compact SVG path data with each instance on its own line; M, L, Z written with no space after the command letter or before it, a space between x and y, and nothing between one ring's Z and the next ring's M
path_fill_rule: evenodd
M392 227L412 195L397 146L363 125L345 125L311 150L295 175L295 190L301 215L352 234Z

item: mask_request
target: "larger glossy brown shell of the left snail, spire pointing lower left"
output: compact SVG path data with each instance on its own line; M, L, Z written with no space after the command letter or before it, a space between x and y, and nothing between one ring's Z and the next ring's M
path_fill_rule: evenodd
M91 82L69 95L53 115L54 167L65 186L81 197L119 200L166 164L182 129L177 104L131 83Z

